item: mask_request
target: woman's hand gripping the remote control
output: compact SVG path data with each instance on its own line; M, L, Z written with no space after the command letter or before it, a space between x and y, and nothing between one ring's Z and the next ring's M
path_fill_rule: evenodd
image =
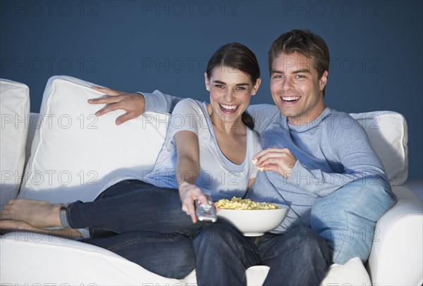
M179 185L179 197L182 203L182 210L191 216L192 223L197 223L197 216L195 215L195 200L200 199L203 204L208 204L207 198L204 196L202 190L196 185L188 182L182 182Z

